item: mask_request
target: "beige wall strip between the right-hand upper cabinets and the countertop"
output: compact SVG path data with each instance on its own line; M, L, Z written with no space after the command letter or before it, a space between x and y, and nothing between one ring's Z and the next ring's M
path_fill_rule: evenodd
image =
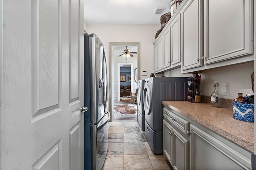
M227 86L227 96L222 96L225 99L234 99L237 93L254 94L252 92L251 74L254 71L254 62L239 64L234 66L226 66L223 68L214 68L201 71L201 95L210 96L214 91L214 82L221 86ZM164 73L166 77L184 76L180 74L181 68L171 70ZM192 74L186 74L192 76Z

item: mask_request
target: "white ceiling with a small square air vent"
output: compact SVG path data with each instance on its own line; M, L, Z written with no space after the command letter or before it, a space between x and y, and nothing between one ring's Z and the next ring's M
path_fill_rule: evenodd
M165 7L162 14L155 8ZM160 25L160 17L170 12L170 0L85 0L87 24Z

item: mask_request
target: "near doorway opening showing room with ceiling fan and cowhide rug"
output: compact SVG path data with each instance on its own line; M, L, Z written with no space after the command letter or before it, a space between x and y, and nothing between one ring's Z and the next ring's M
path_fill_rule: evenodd
M132 52L127 57L126 50ZM110 99L111 121L137 121L136 75L140 70L140 43L109 43ZM131 93L132 92L132 93ZM134 97L134 96L133 96Z

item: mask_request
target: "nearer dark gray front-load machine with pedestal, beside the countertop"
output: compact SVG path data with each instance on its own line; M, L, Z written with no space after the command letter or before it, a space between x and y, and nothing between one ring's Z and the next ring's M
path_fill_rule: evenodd
M143 98L145 135L154 154L163 153L162 101L186 101L188 77L151 77L145 79Z

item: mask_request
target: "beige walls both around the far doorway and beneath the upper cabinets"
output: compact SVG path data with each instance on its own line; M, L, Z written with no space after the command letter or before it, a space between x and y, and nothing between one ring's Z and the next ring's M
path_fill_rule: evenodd
M150 74L154 72L154 46L155 34L160 25L91 25L85 24L87 33L96 33L106 46L108 54L109 42L140 42L141 64L140 70ZM254 63L246 63L223 68L204 70L202 76L202 95L210 96L214 91L214 82L221 86L227 86L226 99L234 99L238 92L244 95L253 94L251 88L251 74L254 71ZM166 77L191 76L192 74L181 74L177 68L164 73ZM162 76L162 75L160 75Z

